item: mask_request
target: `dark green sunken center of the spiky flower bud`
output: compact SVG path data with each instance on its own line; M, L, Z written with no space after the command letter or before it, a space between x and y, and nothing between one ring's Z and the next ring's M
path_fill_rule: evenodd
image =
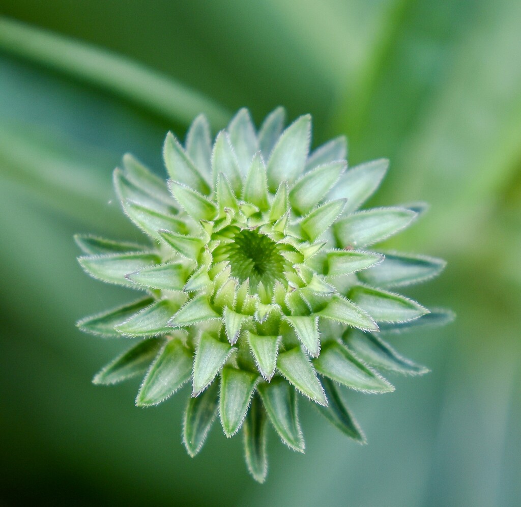
M243 229L233 236L233 242L225 246L232 276L243 282L250 279L250 287L259 282L271 288L276 280L284 279L286 259L279 246L265 234Z

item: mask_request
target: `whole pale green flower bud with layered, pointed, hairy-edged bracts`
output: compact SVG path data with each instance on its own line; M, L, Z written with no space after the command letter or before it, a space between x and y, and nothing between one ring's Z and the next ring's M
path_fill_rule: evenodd
M277 108L257 131L241 109L212 144L207 120L197 117L184 146L166 137L167 182L125 155L115 189L143 243L76 237L89 275L142 292L78 323L135 342L95 384L143 376L136 404L151 406L191 382L188 453L199 453L218 415L227 437L241 430L259 482L268 421L303 452L302 394L364 442L342 390L392 391L380 370L426 373L386 339L450 318L394 292L438 275L441 259L373 249L423 210L359 210L388 161L348 169L345 138L310 154L311 117L284 123Z

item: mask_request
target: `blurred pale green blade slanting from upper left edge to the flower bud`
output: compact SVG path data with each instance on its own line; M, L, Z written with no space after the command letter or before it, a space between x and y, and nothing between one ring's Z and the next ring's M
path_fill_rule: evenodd
M132 60L62 35L0 17L0 49L36 61L189 125L204 112L224 126L230 115L200 93Z

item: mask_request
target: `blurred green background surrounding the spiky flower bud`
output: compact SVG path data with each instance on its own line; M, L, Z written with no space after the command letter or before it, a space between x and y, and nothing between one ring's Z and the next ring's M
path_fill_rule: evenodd
M510 506L521 503L521 3L518 0L3 0L0 504ZM111 189L131 151L247 106L347 134L391 170L371 204L429 213L388 246L444 257L404 291L452 308L393 345L432 373L351 395L368 446L306 403L305 455L271 435L267 483L214 427L187 456L187 391L133 405L91 378L123 341L80 317L133 295L82 273L75 232L133 239Z

